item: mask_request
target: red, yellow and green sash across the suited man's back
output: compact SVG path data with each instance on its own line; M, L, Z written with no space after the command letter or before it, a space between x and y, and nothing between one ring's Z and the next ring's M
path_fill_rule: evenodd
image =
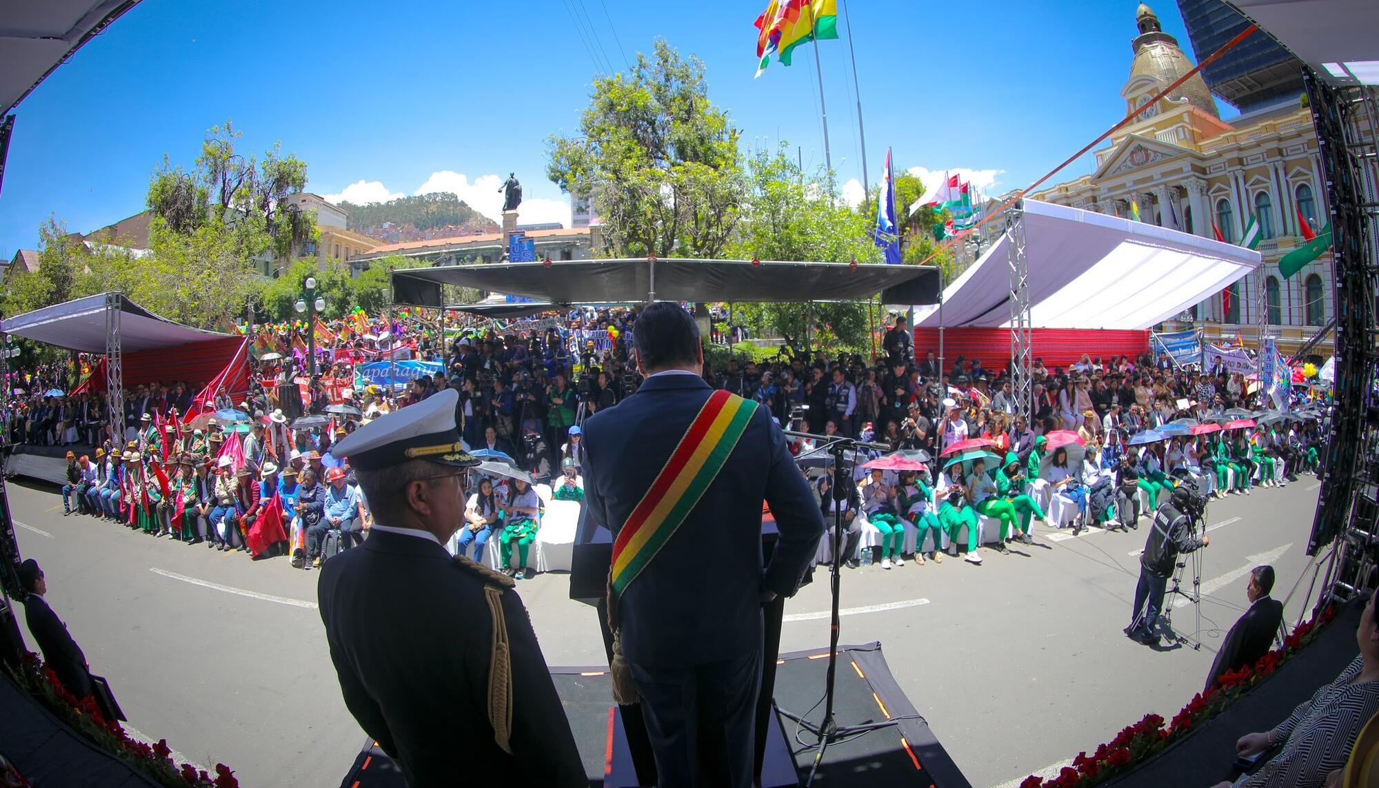
M612 543L610 602L647 568L723 470L757 404L714 391Z

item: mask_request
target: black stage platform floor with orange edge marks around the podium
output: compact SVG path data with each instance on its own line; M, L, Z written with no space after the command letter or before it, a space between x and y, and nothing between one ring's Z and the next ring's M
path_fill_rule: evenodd
M815 785L967 787L953 759L934 738L928 723L891 676L880 643L840 646L834 719L840 726L906 718L884 727L833 744L825 754ZM823 715L823 682L827 649L782 654L776 668L776 708L818 722ZM589 784L601 787L610 769L608 727L612 689L604 668L557 667L550 671L570 718ZM808 714L805 714L808 712ZM798 732L793 720L776 718L785 730L803 780L814 760L812 737ZM804 741L804 744L800 744ZM365 743L341 781L342 788L404 788L401 773Z

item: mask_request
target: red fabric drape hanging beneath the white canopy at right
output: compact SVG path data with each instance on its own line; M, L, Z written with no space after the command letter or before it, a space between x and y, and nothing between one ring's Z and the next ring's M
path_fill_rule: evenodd
M1113 331L1098 328L1036 328L1030 332L1030 358L1043 358L1044 366L1067 368L1088 354L1103 361L1111 355L1131 358L1149 350L1147 331ZM928 351L939 351L939 329L914 329L914 355L924 360ZM1004 369L1011 360L1011 331L1008 328L950 328L943 332L943 362L952 368L961 355L967 361L982 360L990 371Z

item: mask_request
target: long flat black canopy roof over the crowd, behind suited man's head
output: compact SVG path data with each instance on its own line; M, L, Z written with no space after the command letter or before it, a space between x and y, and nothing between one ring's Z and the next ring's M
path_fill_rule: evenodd
M396 303L444 307L441 285L528 296L547 303L811 302L938 303L939 271L927 266L778 260L552 260L476 263L393 271Z

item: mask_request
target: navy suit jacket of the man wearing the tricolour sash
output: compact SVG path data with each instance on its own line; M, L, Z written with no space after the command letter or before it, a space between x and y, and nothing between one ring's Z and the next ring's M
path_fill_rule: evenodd
M616 536L712 393L696 375L652 376L615 409L586 419L587 517ZM765 568L763 499L781 532ZM698 506L619 598L623 654L645 665L695 665L760 649L760 590L794 594L822 533L785 434L757 408Z

